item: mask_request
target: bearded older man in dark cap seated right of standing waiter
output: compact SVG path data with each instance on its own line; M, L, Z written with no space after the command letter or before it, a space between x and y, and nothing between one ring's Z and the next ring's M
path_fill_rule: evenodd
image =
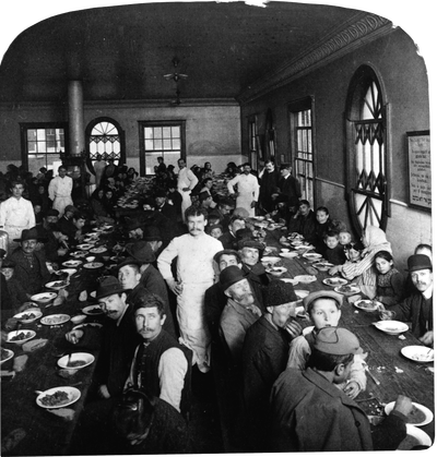
M231 265L220 274L220 284L227 297L220 318L220 330L229 349L233 364L241 365L246 332L262 315L249 280L238 266Z

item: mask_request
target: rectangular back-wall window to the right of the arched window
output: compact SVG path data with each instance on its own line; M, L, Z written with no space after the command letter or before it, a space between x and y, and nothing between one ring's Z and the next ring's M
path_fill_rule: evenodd
M185 120L139 121L139 130L141 176L154 175L157 157L176 169L179 158L187 159Z

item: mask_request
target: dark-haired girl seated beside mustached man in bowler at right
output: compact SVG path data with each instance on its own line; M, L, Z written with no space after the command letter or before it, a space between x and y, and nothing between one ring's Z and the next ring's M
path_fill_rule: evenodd
M393 256L388 251L375 255L375 267L378 270L375 300L385 305L400 303L405 297L405 279L393 266Z

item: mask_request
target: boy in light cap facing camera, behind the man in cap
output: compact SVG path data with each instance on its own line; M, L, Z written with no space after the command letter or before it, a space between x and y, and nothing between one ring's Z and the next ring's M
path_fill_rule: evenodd
M311 353L311 347L317 332L323 327L336 327L341 317L343 297L330 290L319 290L309 293L304 299L304 306L314 323L314 329L306 335L294 338L290 345L287 368L305 370L307 360ZM355 398L359 392L366 389L366 373L364 359L367 354L354 356L350 378L336 386L351 398Z

